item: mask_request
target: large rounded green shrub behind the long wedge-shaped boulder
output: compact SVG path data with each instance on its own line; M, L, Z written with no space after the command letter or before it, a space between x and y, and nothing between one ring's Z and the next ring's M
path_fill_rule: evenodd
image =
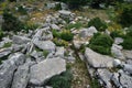
M89 42L89 47L100 54L110 55L113 40L107 34L97 33Z

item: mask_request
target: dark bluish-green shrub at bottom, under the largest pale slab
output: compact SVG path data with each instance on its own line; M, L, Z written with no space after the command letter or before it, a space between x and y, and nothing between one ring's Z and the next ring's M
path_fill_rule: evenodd
M56 75L52 77L47 85L53 88L70 88L72 86L73 75L69 70L62 73L61 75Z

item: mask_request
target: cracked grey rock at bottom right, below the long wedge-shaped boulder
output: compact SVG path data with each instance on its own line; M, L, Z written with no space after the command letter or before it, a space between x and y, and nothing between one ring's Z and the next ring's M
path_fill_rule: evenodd
M103 86L106 88L112 88L111 84L110 84L110 78L112 76L112 74L108 70L108 69L98 69L98 75L99 78L103 84Z

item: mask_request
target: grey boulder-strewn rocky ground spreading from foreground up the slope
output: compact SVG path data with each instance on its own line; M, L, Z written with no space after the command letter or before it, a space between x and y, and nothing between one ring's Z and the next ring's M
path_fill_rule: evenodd
M90 19L69 11L64 3L62 10L51 12L56 4L47 3L48 12L44 16L40 13L41 16L31 19L41 24L38 29L29 33L9 33L2 38L0 88L52 88L46 81L67 69L74 76L72 88L132 88L132 51L119 45L123 40L114 38L113 56L101 55L86 46L81 48L94 33L98 33L97 29L86 28ZM31 15L33 8L28 8ZM44 12L45 9L38 10ZM53 30L64 31L67 21L72 24L80 22L82 26L69 29L74 38L59 46L54 41Z

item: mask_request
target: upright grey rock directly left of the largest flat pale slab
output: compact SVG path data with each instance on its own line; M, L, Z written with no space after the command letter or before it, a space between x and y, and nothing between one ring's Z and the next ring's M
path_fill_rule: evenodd
M15 72L11 88L26 88L29 78L30 78L29 65L24 64L20 66Z

